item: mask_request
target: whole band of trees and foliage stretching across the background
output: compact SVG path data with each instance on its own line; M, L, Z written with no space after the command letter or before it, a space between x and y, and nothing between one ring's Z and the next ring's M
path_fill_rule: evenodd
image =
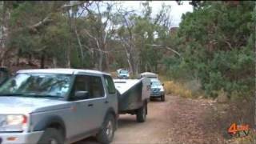
M230 97L254 94L254 2L193 1L194 11L183 14L174 34L170 33L170 6L162 5L154 17L149 2L142 2L141 14L110 13L110 2L93 2L106 10L100 13L92 5L78 17L78 6L61 9L65 3L1 2L0 13L6 14L1 26L8 26L6 47L18 50L18 57L56 59L59 67L70 62L74 68L97 68L103 55L103 70L115 71L128 68L133 57L138 72L196 80L211 97L218 96L219 90Z

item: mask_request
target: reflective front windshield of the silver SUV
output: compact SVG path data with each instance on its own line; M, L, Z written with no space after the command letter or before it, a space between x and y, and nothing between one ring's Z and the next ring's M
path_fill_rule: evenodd
M17 74L0 87L0 95L63 98L70 90L69 74Z

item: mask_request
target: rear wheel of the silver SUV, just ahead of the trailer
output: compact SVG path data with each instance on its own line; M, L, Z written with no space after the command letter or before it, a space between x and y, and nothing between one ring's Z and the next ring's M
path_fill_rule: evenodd
M103 122L102 129L96 134L98 142L102 144L109 144L113 141L115 130L115 119L113 114L108 114Z

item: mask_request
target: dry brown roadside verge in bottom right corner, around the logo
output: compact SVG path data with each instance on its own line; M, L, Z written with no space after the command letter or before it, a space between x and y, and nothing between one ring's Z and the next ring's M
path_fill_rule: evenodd
M251 99L231 98L226 102L216 102L214 113L216 128L222 134L225 143L230 144L253 144L256 143L256 133L254 130L254 101ZM249 125L250 134L243 138L231 138L227 133L232 123L237 125Z

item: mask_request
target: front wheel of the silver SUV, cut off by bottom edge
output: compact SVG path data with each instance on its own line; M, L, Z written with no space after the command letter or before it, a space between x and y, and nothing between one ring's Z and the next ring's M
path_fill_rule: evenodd
M52 143L63 144L64 138L59 130L54 128L47 128L42 134L42 137L39 139L38 144Z

